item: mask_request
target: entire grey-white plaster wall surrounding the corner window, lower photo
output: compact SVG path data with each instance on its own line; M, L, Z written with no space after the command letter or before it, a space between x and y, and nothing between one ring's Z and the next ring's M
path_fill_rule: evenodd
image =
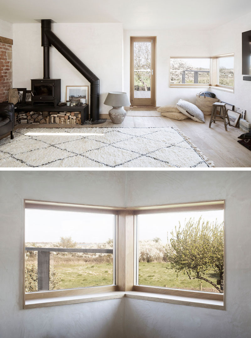
M250 337L249 171L70 172L0 172L1 338ZM129 298L22 310L23 198L106 206L225 199L226 310Z

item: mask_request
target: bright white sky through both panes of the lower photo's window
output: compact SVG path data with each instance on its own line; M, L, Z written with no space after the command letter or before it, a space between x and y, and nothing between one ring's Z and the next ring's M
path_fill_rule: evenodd
M201 215L213 222L223 221L223 210L149 214L139 216L139 240L159 237L167 242L167 232L185 219ZM103 243L113 238L113 215L69 211L25 210L25 242L58 242L60 237L72 237L78 243Z

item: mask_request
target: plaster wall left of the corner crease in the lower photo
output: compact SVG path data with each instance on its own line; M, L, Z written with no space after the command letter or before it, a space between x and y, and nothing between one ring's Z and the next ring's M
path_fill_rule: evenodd
M0 172L1 338L123 336L123 298L23 310L22 252L24 198L121 206L124 184L112 171Z

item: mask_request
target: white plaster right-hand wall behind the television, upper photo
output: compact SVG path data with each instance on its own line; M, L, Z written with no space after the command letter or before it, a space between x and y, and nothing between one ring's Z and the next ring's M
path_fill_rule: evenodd
M217 27L211 33L211 55L234 53L234 94L212 89L222 101L247 110L251 122L251 81L243 81L242 32L251 30L251 13Z

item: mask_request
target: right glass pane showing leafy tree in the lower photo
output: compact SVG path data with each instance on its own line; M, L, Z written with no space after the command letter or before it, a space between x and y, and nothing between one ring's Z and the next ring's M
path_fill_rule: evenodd
M139 215L138 284L222 293L223 217L223 210Z

